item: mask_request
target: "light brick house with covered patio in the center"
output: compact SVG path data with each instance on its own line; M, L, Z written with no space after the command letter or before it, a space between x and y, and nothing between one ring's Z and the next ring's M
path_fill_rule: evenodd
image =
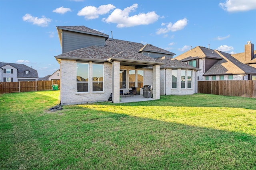
M120 102L120 90L152 85L153 99L169 94L194 94L200 69L176 59L170 51L108 35L84 26L57 27L62 54L61 104ZM142 90L143 91L143 90Z

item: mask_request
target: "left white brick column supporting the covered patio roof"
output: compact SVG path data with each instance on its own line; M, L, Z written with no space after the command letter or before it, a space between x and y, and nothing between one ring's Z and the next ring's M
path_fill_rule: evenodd
M113 96L114 103L120 102L120 61L113 62Z

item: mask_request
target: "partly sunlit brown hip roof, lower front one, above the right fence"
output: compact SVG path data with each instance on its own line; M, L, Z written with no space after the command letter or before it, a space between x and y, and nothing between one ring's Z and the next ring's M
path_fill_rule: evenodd
M243 64L232 55L215 50L223 59L215 63L204 76L224 74L255 74L256 68Z

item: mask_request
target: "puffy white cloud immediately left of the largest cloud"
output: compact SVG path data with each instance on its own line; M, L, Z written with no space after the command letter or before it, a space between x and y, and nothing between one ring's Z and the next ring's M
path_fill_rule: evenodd
M82 10L78 11L78 16L84 16L87 20L99 18L99 15L107 14L110 10L116 8L112 4L101 5L98 8L95 6L86 6Z

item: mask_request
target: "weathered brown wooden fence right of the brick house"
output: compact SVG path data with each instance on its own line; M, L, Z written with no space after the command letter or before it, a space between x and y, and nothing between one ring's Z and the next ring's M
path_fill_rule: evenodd
M198 81L198 93L256 98L256 80Z

